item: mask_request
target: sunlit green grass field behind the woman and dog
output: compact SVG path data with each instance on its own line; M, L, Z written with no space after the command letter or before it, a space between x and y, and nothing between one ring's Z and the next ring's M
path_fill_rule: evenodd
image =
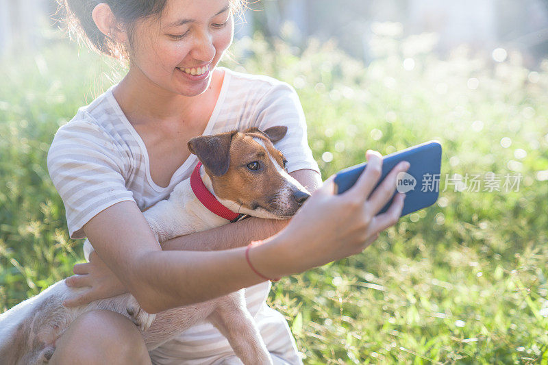
M441 190L453 174L480 175L480 189L449 184L364 253L274 284L271 305L306 364L548 363L548 61L532 72L514 53L440 60L427 38L376 41L364 65L330 44L257 37L225 65L295 86L324 178L366 149L436 138ZM58 127L121 78L112 65L58 40L0 60L0 311L83 260L46 155ZM487 173L501 191L482 191ZM503 190L507 174L521 174L518 192Z

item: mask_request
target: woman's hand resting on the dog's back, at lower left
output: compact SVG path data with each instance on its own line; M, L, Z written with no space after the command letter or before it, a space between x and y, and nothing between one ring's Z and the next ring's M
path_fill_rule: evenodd
M88 290L66 299L63 302L65 307L77 307L97 299L115 297L127 292L118 277L112 273L95 251L90 253L90 262L75 264L73 271L76 275L67 277L64 281L65 284L71 288L87 287Z

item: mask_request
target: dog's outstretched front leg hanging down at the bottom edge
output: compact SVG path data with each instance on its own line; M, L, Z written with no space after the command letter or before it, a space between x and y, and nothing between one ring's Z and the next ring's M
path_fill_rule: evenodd
M269 350L245 306L244 291L239 290L217 300L218 305L208 320L227 338L236 356L245 365L272 364Z

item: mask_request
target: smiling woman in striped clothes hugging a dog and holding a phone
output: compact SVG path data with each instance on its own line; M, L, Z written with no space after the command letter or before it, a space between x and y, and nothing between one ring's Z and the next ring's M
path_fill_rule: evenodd
M358 253L396 223L401 194L386 214L374 216L406 166L397 166L371 194L381 166L380 155L371 152L370 167L355 188L336 196L329 179L290 222L249 218L169 240L162 251L141 212L190 176L197 163L186 147L192 137L287 125L288 135L276 147L288 160L288 172L310 190L321 186L298 97L281 81L216 66L232 42L240 0L59 1L88 44L129 62L119 84L59 129L48 154L71 237L87 237L97 252L68 279L90 290L66 305L129 291L155 313L247 288L247 305L275 363L301 363L286 320L265 303L269 281L247 263L246 246L264 239L249 249L263 277L301 273ZM225 251L192 251L201 242ZM210 325L192 327L148 354L135 326L108 311L75 320L51 358L52 364L151 361L238 364Z

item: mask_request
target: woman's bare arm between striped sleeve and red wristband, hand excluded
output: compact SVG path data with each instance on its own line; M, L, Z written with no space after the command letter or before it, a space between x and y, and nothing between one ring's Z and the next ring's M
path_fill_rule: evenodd
M84 225L84 232L101 260L149 313L261 281L247 266L242 249L162 251L134 202L108 207Z

